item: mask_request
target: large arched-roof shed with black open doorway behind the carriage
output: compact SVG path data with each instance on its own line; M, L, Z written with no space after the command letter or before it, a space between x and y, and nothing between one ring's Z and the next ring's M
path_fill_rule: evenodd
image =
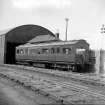
M55 35L38 25L22 25L0 32L0 63L15 63L15 47L27 43L38 35Z

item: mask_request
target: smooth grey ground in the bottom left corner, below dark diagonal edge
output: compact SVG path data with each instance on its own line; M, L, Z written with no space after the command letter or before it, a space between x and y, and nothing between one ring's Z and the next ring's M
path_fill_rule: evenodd
M46 105L53 102L15 83L0 79L0 105Z

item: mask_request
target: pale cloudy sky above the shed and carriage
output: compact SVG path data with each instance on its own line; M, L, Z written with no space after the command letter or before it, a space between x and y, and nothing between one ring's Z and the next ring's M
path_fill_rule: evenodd
M92 49L104 48L105 0L0 0L0 30L25 24L59 31L65 40L85 39Z

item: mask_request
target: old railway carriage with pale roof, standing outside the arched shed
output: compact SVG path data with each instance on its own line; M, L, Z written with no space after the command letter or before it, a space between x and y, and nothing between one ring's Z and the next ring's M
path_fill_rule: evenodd
M85 40L25 44L16 47L21 64L63 70L85 70L89 65L89 44Z

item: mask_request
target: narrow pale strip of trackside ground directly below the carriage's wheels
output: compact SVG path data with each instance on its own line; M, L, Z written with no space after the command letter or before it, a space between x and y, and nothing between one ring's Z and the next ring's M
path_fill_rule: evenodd
M27 67L27 66L17 66L17 65L1 65L5 69L5 67L8 69L17 69L17 70L25 70L25 72L37 72L41 74L46 74L49 76L55 76L55 77L61 77L65 78L66 80L73 80L75 82L81 82L83 84L87 85L94 85L94 86L105 86L105 79L100 78L100 76L89 76L89 75L81 75L78 73L71 73L71 72L63 72L63 71L55 71L55 70L49 70L49 69L42 69L42 68L34 68L34 67Z

